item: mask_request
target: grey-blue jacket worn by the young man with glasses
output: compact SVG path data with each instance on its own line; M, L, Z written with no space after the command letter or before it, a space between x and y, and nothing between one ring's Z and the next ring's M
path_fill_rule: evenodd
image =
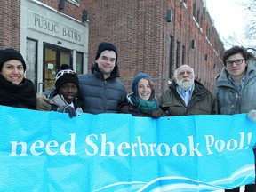
M240 92L228 82L228 72L222 68L216 82L214 97L218 99L219 114L233 115L256 109L256 63L249 60L246 80Z

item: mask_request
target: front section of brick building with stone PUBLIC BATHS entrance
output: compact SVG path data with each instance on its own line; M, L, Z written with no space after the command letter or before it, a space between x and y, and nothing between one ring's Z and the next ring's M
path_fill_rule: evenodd
M0 48L20 50L27 63L26 77L37 92L54 85L56 69L63 63L77 73L87 72L89 25L82 20L83 8L76 1L62 3L0 2Z

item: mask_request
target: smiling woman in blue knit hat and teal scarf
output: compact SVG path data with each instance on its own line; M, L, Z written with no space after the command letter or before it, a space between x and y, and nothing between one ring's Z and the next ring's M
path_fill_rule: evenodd
M158 118L165 116L155 96L153 79L148 74L140 73L132 81L132 93L127 95L127 103L117 109L118 113L132 116L148 116Z

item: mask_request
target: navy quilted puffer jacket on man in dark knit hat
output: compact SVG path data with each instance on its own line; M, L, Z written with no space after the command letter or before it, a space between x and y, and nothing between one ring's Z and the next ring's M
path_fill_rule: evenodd
M92 65L92 74L78 75L84 112L92 114L116 113L117 107L126 102L126 90L119 77L116 65L110 77L104 79L97 64Z

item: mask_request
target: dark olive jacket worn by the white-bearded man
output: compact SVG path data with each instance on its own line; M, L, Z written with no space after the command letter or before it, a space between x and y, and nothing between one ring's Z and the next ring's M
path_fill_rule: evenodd
M195 80L195 88L187 107L176 91L177 86L175 81L172 81L169 88L161 94L160 105L168 116L217 114L216 101L213 99L212 93L203 84Z

